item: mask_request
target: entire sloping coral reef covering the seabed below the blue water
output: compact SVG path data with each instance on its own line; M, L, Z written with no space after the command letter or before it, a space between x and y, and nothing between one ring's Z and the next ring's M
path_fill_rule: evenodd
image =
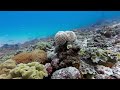
M0 48L0 79L120 79L119 22L6 44Z

